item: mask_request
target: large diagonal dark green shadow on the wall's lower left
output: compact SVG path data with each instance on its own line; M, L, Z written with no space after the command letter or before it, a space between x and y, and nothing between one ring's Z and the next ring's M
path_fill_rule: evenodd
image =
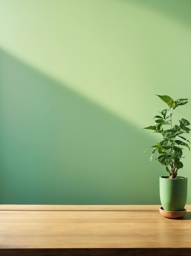
M146 132L3 51L0 97L1 204L160 204Z

